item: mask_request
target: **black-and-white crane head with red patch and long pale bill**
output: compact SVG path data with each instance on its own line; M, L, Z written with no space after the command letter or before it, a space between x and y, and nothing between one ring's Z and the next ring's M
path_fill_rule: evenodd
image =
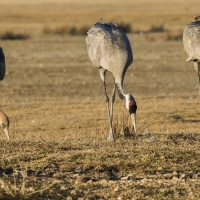
M126 98L126 108L128 109L130 116L131 116L131 120L133 122L133 127L134 130L136 132L136 110L137 110L137 104L135 99L133 98L133 96L131 94L126 94L125 95Z

